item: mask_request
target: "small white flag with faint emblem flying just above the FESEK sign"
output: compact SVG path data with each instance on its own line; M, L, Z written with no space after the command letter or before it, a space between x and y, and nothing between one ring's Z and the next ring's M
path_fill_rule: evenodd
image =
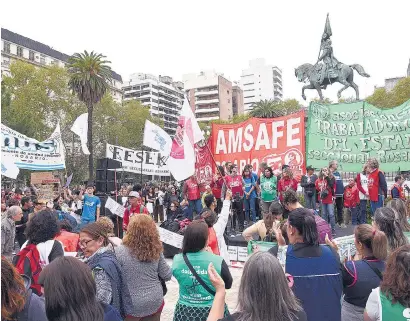
M147 119L144 127L144 146L160 151L163 156L168 156L171 152L172 139L165 130Z

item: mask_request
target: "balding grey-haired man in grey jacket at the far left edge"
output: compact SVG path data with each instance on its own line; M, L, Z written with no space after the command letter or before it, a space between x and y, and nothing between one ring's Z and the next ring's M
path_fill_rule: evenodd
M12 206L1 220L1 255L4 255L9 261L12 260L14 254L16 222L20 221L22 216L21 208L19 206Z

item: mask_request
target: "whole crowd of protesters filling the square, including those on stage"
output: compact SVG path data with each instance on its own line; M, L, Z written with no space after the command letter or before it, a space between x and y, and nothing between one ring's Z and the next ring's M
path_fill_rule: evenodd
M124 237L91 185L65 188L54 202L33 189L3 192L2 320L160 320L172 277L176 321L406 320L410 213L402 178L385 202L377 160L346 186L337 169L332 161L316 176L307 167L304 197L289 167L277 173L264 163L259 173L220 166L203 192L195 177L182 186L123 187ZM357 251L341 262L332 236L350 220ZM183 229L172 266L159 224ZM233 283L228 227L272 243L245 263L235 312L225 303ZM277 256L285 247L283 266Z

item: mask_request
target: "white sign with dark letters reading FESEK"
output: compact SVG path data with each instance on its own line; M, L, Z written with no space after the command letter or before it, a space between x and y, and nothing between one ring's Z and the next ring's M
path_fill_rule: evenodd
M106 157L122 162L125 172L143 175L169 176L168 157L159 152L138 151L107 144ZM141 168L142 163L142 168Z

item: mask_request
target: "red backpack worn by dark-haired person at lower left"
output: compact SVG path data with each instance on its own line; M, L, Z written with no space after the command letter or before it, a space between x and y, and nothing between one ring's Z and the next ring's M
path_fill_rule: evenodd
M40 265L40 253L37 250L37 246L29 244L21 249L14 257L13 263L19 274L26 275L30 278L30 289L32 289L37 295L41 296L41 285L38 284L38 278L42 268ZM24 266L27 265L27 263L30 266L29 271L24 270ZM28 273L30 273L30 275L27 275Z

